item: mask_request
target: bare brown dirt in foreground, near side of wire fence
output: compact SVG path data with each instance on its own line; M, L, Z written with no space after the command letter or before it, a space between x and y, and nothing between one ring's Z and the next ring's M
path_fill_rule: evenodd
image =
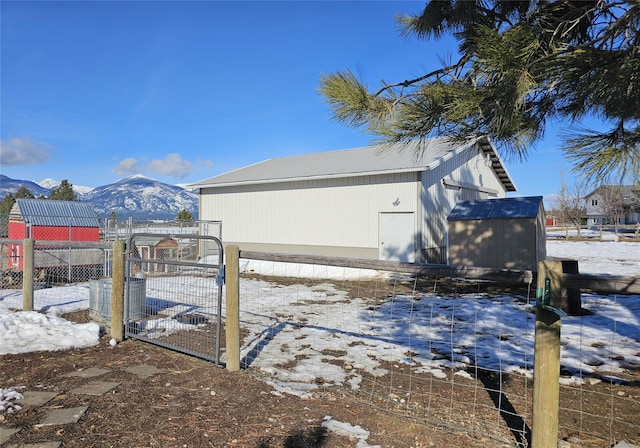
M61 441L64 447L355 447L353 437L327 431L326 416L370 431L369 445L382 447L474 446L464 434L429 430L340 395L318 399L274 395L249 373L230 373L211 363L133 340L63 352L0 357L3 388L60 394L42 407L25 407L0 418L3 427L22 427L10 444ZM162 369L142 379L124 371L148 364ZM109 369L100 377L121 384L100 396L69 390L85 378L65 376L89 367ZM88 406L76 423L36 428L53 408ZM478 446L487 446L479 443Z

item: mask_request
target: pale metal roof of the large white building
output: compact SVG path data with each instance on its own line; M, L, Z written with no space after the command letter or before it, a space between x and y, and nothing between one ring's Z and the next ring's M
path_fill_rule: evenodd
M506 190L515 191L513 181L487 139L476 139L461 144L445 138L268 159L190 186L223 187L424 171L437 167L455 154L475 147L476 143L484 154L489 156L493 170Z

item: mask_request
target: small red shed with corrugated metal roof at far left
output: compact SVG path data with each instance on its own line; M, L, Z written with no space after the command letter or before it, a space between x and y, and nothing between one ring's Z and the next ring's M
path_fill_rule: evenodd
M36 242L99 241L100 220L86 202L19 198L9 216L8 237ZM22 270L22 244L9 245L9 266Z

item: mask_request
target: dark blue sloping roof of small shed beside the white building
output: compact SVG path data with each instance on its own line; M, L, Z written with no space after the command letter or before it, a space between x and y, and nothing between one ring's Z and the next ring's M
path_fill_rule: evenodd
M476 199L458 202L451 213L449 221L469 219L521 219L538 216L542 196L522 198Z

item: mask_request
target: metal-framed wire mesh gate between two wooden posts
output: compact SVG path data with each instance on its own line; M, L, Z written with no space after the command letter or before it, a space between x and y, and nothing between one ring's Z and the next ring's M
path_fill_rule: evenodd
M133 234L125 335L220 364L224 253L213 236Z

